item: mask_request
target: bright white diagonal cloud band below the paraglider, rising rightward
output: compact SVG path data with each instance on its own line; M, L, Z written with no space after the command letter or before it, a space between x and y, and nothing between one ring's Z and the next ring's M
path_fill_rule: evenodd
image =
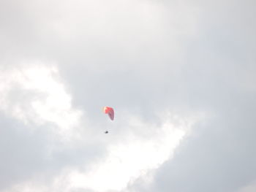
M147 177L152 170L170 160L184 136L202 118L199 114L182 118L166 112L158 126L131 116L125 126L128 131L116 135L121 138L111 139L111 134L115 137L115 131L105 135L109 138L105 143L105 157L92 162L89 168L80 169L87 163L67 166L52 177L47 186L43 180L38 182L35 178L14 185L10 191L122 191L129 183ZM142 130L148 134L143 134Z

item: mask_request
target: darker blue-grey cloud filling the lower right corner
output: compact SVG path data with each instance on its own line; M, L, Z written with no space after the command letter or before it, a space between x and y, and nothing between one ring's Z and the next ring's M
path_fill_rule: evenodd
M255 121L219 113L159 169L153 191L235 191L255 179Z

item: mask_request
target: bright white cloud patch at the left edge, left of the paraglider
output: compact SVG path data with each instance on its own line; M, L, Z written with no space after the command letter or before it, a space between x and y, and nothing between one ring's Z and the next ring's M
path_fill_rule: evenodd
M80 123L82 113L72 109L54 65L35 61L1 70L0 93L1 110L23 123L54 123L63 133Z

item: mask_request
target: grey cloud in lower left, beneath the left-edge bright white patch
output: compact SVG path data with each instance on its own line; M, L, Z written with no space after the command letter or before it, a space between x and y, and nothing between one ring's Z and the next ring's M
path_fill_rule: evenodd
M87 162L104 154L102 145L83 142L64 145L53 131L54 125L24 125L1 113L1 183L0 191L22 183L35 175L38 180L50 184L62 168L75 166L85 171Z

